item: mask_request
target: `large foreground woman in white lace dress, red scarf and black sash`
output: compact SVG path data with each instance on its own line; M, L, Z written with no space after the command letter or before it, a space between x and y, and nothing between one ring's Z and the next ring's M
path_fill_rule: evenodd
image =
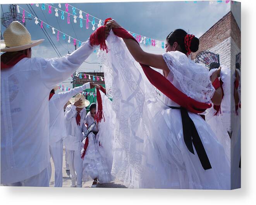
M116 114L112 175L134 188L229 189L224 149L198 115L215 91L204 66L188 58L198 38L176 29L158 55L143 51L114 20L104 29L107 46L103 34L102 42L93 40L99 31L90 42L107 48L100 57Z

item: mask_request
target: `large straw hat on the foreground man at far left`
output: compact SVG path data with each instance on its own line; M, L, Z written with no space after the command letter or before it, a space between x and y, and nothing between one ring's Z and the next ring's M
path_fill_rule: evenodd
M31 35L18 21L13 21L9 27L3 33L3 39L1 40L0 50L1 52L14 52L22 51L33 46L37 46L45 39L39 39L31 41Z

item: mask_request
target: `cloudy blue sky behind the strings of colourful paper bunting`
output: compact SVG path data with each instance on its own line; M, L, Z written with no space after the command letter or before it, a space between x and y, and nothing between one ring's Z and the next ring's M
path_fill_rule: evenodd
M120 3L70 3L74 7L77 7L84 12L99 18L106 19L112 17L125 29L141 34L146 37L158 39L164 41L166 36L174 29L182 28L189 33L194 34L196 37L200 37L206 30L208 30L213 24L221 19L227 12L230 11L230 3L217 3L216 1L197 1L194 2L120 2ZM62 10L65 10L65 3L62 3ZM238 4L237 4L238 5ZM2 12L8 11L9 5L2 5ZM29 11L26 4L20 4L22 8ZM58 3L53 4L54 7L58 8ZM239 3L240 6L240 3ZM52 14L48 14L48 6L45 5L46 10L41 10L40 7L32 5L36 15L43 22L48 22L49 25L55 27L58 30L68 34L69 36L75 37L81 41L86 41L93 32L92 25L90 24L89 29L85 28L86 22L83 22L83 27L80 28L79 17L77 17L77 23L74 24L72 15L70 21L72 24L67 24L67 14L65 19L61 19L61 12L58 11L59 17L55 17L54 9ZM232 10L233 11L233 10ZM22 12L22 10L21 10ZM72 7L69 7L69 12L72 13ZM77 15L79 10L76 10ZM239 9L234 9L234 16L240 26L241 17L239 17ZM26 13L27 16L27 13ZM85 14L83 14L86 19ZM58 19L57 19L58 18ZM90 17L92 20L92 17ZM98 23L98 20L95 20ZM73 25L73 27L72 27ZM45 25L44 25L45 26ZM49 41L46 39L40 25L34 24L34 18L32 20L26 20L26 27L31 33L32 39L44 38L45 42L40 46L33 48L33 57L45 57L54 58L57 54L53 50ZM74 28L74 29L73 29ZM5 27L1 24L1 32L3 34ZM68 51L73 51L74 46L72 41L70 44L60 36L58 42L57 32L55 35L52 34L52 29L47 29L49 36L57 46L59 52L62 55L67 54ZM157 47L142 46L144 50L153 53L163 53L164 50ZM96 54L93 53L87 61L89 63L98 63ZM100 64L88 64L83 63L79 71L98 71Z

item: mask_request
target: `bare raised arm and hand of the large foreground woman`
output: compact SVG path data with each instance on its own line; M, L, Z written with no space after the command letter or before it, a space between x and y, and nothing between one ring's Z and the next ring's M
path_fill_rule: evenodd
M115 20L108 21L106 28L118 28L121 27ZM133 58L144 65L148 65L154 68L162 69L163 71L169 72L169 69L163 59L162 55L147 53L141 49L139 44L132 39L123 39L125 45L127 46L129 52L132 54Z

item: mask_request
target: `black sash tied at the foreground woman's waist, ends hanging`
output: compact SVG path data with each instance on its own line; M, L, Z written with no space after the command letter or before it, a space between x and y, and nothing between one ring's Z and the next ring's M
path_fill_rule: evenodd
M189 117L187 110L183 107L170 106L170 108L180 110L181 119L182 119L183 137L184 137L184 142L187 146L187 149L192 154L195 154L193 149L193 145L194 145L196 149L196 153L198 154L198 158L204 170L211 169L211 163L208 159L203 143L199 137L198 131L196 130L196 126L193 120L191 120L191 118Z

